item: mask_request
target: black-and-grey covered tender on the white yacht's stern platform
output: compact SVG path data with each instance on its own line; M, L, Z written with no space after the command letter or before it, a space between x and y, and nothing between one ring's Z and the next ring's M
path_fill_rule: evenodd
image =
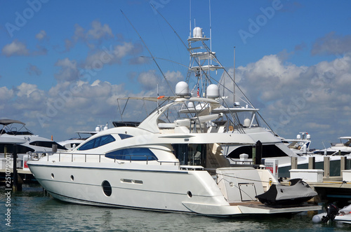
M256 198L265 205L299 205L317 196L317 192L302 179L291 179L290 182L290 186L273 184L268 191Z

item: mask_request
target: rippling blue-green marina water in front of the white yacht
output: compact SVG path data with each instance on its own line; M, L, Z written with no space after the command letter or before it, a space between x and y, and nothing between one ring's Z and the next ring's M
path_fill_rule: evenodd
M0 231L351 231L347 224L314 224L306 212L253 219L94 207L44 196L38 184L11 193L11 207L6 207L5 193L0 189ZM5 220L8 208L11 227Z

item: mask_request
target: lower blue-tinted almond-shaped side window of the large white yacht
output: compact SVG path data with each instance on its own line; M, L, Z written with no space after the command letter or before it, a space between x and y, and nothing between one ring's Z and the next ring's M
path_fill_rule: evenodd
M130 149L120 149L117 151L112 151L105 155L107 158L115 158L117 160L125 161L156 161L157 157L154 155L150 149L141 148L130 148Z

